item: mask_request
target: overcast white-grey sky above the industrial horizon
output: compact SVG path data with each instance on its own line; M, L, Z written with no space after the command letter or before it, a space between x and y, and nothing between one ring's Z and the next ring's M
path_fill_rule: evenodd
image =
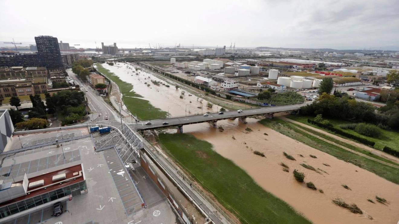
M52 35L83 47L399 45L397 0L0 0L0 12L1 41Z

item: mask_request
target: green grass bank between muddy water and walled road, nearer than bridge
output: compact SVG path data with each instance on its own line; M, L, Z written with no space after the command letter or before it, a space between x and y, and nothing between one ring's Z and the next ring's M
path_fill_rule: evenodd
M310 223L257 185L233 161L219 155L209 142L189 134L160 134L159 140L166 152L241 223Z

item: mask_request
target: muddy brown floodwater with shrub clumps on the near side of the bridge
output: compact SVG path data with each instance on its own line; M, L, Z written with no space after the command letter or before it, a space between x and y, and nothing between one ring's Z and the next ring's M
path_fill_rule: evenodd
M255 118L247 118L247 121L248 124L239 123L237 120L219 121L217 126L222 126L223 132L211 128L207 123L187 125L183 130L198 139L212 143L215 151L247 171L263 189L281 198L314 223L396 224L398 222L399 185L284 136L257 123L258 120ZM245 131L247 127L253 131ZM266 158L253 154L252 150L265 153ZM283 151L294 156L296 161L286 159L282 155ZM316 155L317 159L311 158L310 154ZM281 162L290 167L289 173L282 171L279 165ZM300 163L320 168L328 174L305 169ZM323 163L329 164L330 167ZM309 189L304 183L295 181L292 175L294 169L304 172L305 182L312 181L324 193ZM344 189L342 184L348 185L352 191ZM376 195L387 199L390 204L383 205L376 202ZM347 203L357 204L363 214L354 214L336 206L332 203L332 199L336 197L343 198ZM372 199L375 204L368 202L367 198ZM368 216L373 220L367 218Z

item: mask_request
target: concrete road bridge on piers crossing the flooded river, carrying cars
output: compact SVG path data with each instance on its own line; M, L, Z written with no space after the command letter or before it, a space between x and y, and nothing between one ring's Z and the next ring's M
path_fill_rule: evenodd
M294 105L286 105L286 106L273 106L273 107L265 107L265 108L256 108L243 110L241 113L238 113L237 110L234 111L226 111L223 114L209 113L208 116L200 115L190 115L190 116L181 116L175 118L165 118L159 120L151 120L151 124L146 124L148 121L137 122L136 124L129 125L134 130L152 130L158 128L168 128L168 127L176 127L180 133L183 132L183 125L187 124L197 124L203 122L209 122L214 128L216 128L216 122L218 120L225 120L229 118L239 118L239 120L243 123L246 123L246 118L249 116L257 116L257 115L268 115L270 118L273 117L274 113L278 112L288 112L288 111L297 111L300 107L304 106L304 104L294 104ZM168 122L168 124L163 124L164 122Z

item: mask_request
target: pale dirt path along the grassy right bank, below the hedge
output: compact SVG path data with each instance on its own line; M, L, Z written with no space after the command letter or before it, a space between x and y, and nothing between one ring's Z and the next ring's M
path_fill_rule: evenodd
M288 118L285 118L285 117L280 117L280 118L281 118L282 120L287 121L288 123L291 122L291 123L294 123L294 124L298 124L298 125L300 125L300 126L303 126L303 127L306 127L306 128L310 128L310 129L312 129L312 130L314 130L314 131L316 131L316 132L319 132L319 133L322 133L322 134L326 134L326 135L328 135L328 136L332 136L332 137L335 138L336 140L344 141L344 142L349 143L349 144L351 144L351 145L355 145L355 144L356 144L356 142L353 142L353 141L350 141L350 140L346 140L346 139L344 139L344 138L340 138L340 137L335 136L335 135L331 135L331 134L328 133L328 132L323 133L321 130L318 130L317 128L313 128L313 127L310 127L310 126L307 126L306 124L302 124L302 123L300 123L300 122L296 122L296 121L294 121L294 120L291 120L291 119L288 119ZM293 124L291 124L291 125L294 126ZM368 155L365 155L365 154L363 154L363 153L359 153L358 151L354 151L354 150L352 150L352 149L349 149L349 148L347 148L347 147L344 147L344 146L342 146L342 145L340 145L340 144L338 144L338 143L335 143L335 142L333 142L333 141L326 140L325 138L322 138L322 137L320 137L320 136L318 136L318 135L316 135L316 134L313 134L313 133L311 133L311 132L308 132L308 131L306 131L306 130L304 130L304 129L302 129L302 128L298 128L297 126L294 126L294 127L297 128L297 129L299 129L299 130L301 130L302 132L305 132L306 134L310 134L310 135L312 135L312 136L314 136L314 137L316 137L316 138L318 138L318 139L320 139L320 140L323 140L323 141L326 141L326 142L328 142L328 143L330 143L330 144L336 145L336 146L338 146L338 147L340 147L340 148L342 148L342 149L345 149L345 150L350 151L350 152L352 152L352 153L355 153L355 154L357 154L357 155L366 157L366 158L368 158L368 159L371 159L371 160L373 160L373 161L382 163L382 164L384 164L384 165L388 165L388 166L391 166L391 167L399 168L398 165L393 165L393 164L391 164L391 163L387 163L387 162L381 161L381 160L379 160L379 159L375 159L375 158L370 157L370 156L368 156ZM364 146L364 145L363 145L363 146ZM366 150L367 150L367 149L366 149ZM385 156L382 156L381 153L383 153L383 152L381 152L381 151L379 151L379 150L377 150L377 149L373 149L373 151L371 151L371 153L373 153L373 154L375 154L375 155L378 155L378 156L380 156L380 157L384 157L384 158L386 158L386 159L389 159L389 158L387 158L387 157L385 157ZM385 154L385 153L384 153L384 154ZM389 160L391 160L391 159L389 159ZM391 161L392 161L392 160L391 160ZM397 163L397 161L394 161L394 162Z

